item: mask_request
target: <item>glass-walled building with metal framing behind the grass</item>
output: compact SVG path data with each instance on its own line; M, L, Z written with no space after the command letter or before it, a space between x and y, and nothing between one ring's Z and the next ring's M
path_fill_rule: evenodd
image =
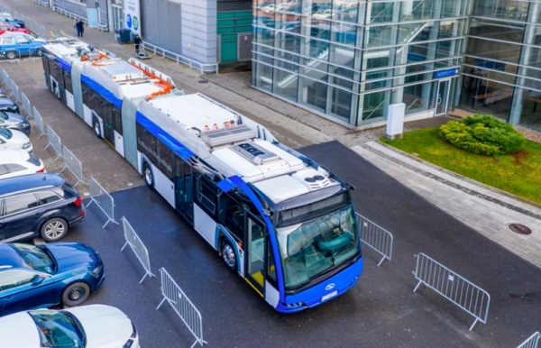
M253 0L252 86L353 128L454 107L541 130L541 0Z

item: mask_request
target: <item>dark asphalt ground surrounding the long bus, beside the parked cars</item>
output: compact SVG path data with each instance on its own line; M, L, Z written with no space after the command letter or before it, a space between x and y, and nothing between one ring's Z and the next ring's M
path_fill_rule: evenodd
M204 240L142 179L115 150L96 138L69 108L44 86L40 60L3 64L10 77L40 111L45 124L115 198L115 218L132 224L151 256L151 270L163 267L200 310L209 346L329 347L514 347L539 330L541 272L427 203L408 188L338 142L313 144L301 151L334 169L356 186L357 210L395 237L393 257L377 267L379 257L364 249L364 273L356 287L326 305L295 315L281 315L243 279L225 270ZM49 171L62 169L47 137L32 143ZM68 171L63 173L68 179ZM81 193L87 186L78 185ZM160 281L146 278L133 252L124 245L122 224L105 224L96 206L66 241L92 245L105 262L106 280L87 303L120 307L138 328L143 347L185 347L194 339L169 306L161 301ZM491 294L488 323L472 331L472 316L416 285L414 254L426 252ZM532 291L532 289L536 289Z

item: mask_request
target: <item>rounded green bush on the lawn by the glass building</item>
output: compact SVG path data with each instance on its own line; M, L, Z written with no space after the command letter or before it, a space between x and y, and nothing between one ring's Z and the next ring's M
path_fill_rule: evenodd
M474 114L440 126L440 135L464 151L494 156L514 153L525 142L524 136L488 114Z

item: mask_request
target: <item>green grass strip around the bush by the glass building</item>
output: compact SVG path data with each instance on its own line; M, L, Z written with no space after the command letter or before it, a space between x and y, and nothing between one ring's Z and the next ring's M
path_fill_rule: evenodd
M541 143L527 141L513 154L487 157L455 148L438 136L439 128L404 133L384 142L421 160L493 188L541 204Z

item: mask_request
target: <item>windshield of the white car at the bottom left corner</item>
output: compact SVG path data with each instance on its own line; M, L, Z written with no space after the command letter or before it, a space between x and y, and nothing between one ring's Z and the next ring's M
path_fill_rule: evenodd
M87 338L78 319L67 311L29 311L40 334L40 347L85 347Z

